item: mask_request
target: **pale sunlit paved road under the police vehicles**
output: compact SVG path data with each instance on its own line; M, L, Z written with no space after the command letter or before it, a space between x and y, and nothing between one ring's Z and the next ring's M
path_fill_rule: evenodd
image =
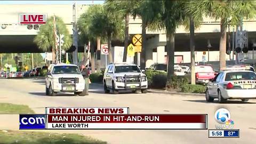
M104 94L102 88L91 86L86 97L60 94L46 97L43 79L0 79L0 102L29 105L36 113L44 107L130 107L130 113L203 113L209 114L209 129L217 124L215 110L227 108L241 130L240 138L208 138L207 130L52 130L82 133L109 143L255 143L256 100L243 103L206 103L204 97L156 93ZM18 130L18 115L0 115L0 129Z

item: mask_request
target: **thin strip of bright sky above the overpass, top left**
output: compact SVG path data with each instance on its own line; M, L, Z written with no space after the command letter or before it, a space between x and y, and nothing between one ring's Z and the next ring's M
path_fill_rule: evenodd
M0 1L0 4L103 4L104 1Z

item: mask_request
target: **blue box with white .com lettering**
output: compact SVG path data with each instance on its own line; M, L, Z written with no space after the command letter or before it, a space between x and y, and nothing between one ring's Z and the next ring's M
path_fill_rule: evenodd
M20 115L20 130L45 129L45 115Z

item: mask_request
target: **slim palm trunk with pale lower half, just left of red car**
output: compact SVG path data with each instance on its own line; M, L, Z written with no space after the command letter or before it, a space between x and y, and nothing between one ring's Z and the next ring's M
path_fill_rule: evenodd
M195 74L195 26L194 20L190 18L189 21L189 38L190 38L190 69L191 69L191 84L196 84Z

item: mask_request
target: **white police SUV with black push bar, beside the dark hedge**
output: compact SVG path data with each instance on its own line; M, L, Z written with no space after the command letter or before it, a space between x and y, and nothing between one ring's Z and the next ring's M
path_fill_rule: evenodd
M110 90L114 94L117 94L118 90L132 90L133 93L141 90L142 93L147 93L148 81L135 64L110 63L105 69L103 85L105 93Z

